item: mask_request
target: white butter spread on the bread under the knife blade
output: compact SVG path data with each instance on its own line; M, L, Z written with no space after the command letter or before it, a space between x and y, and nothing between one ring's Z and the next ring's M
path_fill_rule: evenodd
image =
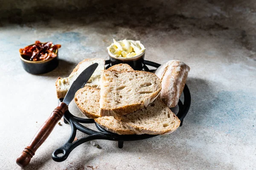
M93 61L86 61L79 64L79 69L71 74L67 78L62 78L58 80L58 85L60 86L61 90L68 90L71 84L76 80L76 78L84 71L88 66L92 65L93 63L98 63L99 66L93 72L93 75L90 77L87 83L90 83L90 86L96 85L99 86L100 74L101 71L105 69L105 61L103 59L96 59Z

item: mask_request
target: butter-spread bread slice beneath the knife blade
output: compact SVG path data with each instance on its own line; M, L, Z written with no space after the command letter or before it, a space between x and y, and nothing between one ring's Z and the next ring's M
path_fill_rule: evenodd
M93 86L100 88L100 72L101 70L105 69L105 60L101 58L88 58L81 61L73 72L67 78L58 78L55 82L57 98L64 98L67 94L68 89L70 88L71 84L76 80L76 78L81 74L84 69L88 66L92 65L93 63L98 63L99 66L96 68L95 72L87 82L85 86Z

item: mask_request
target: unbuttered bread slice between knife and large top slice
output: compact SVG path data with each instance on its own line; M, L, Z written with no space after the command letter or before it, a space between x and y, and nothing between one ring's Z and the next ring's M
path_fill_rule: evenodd
M80 111L88 118L99 118L99 97L99 89L85 86L76 92L74 100Z

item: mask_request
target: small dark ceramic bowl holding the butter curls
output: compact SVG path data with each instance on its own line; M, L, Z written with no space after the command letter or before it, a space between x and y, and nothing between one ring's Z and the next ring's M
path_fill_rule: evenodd
M109 50L108 50L108 55L109 55L111 66L120 64L120 63L125 63L125 64L129 64L131 68L133 68L134 70L143 69L145 51L142 54L134 56L132 58L123 58L123 57L117 58L113 56Z

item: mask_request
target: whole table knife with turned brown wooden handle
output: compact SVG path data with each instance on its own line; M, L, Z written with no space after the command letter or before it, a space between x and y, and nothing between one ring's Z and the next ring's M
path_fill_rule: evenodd
M68 105L73 100L77 90L84 87L84 85L92 76L93 72L96 70L97 66L98 63L90 65L76 78L76 80L70 86L70 89L68 90L63 102L58 104L58 107L53 110L50 117L40 127L34 138L32 138L30 144L25 147L22 153L20 153L20 156L16 160L16 163L20 167L25 167L27 164L29 164L31 158L35 155L35 151L41 146L41 144L44 143L55 125L58 123L58 121L61 120L61 117L67 111Z

